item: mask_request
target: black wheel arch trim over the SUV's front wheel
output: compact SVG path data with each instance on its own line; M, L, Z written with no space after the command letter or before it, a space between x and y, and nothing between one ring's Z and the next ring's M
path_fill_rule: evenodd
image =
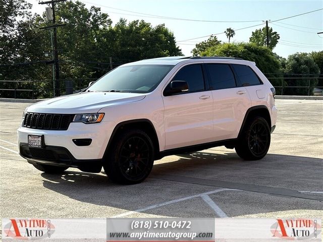
M116 125L116 127L114 128L111 134L109 142L107 143L104 156L106 155L106 152L109 150L111 143L116 137L116 134L118 134L118 132L120 132L121 130L125 130L125 129L139 129L146 132L152 141L155 156L159 153L159 141L153 124L149 119L140 118L140 119L126 120Z

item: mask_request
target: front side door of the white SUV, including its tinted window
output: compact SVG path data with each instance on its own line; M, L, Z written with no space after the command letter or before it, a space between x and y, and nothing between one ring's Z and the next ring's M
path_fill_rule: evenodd
M213 100L211 92L206 90L204 79L202 64L184 66L171 81L186 81L189 90L172 96L163 94L165 149L212 141Z

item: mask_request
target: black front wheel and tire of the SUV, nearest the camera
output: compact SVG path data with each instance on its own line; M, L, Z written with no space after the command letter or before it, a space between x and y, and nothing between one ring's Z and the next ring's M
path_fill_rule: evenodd
M149 136L141 130L124 130L109 147L103 169L115 183L137 184L149 175L153 161L154 149Z

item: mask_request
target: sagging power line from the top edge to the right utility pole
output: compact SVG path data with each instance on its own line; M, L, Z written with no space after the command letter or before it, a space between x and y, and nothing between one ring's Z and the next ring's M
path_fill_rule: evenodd
M146 13L140 13L140 12L135 12L135 11L129 11L129 10L125 10L125 9L118 9L118 8L113 8L113 7L100 5L100 4L94 4L94 3L90 3L90 2L86 2L86 1L82 1L82 0L81 0L81 2L96 5L96 6L100 6L100 7L103 7L103 8L120 10L120 11L124 11L124 12L128 12L128 13L141 14L141 16L139 16L139 17L147 17L147 18L159 18L159 19L194 21L194 22L209 22L209 23L248 23L248 22L261 22L262 21L262 20L220 21L220 20L200 20L200 19L174 18L174 17L168 17L168 16L160 16L160 15L153 15L153 14L146 14ZM116 13L116 12L110 12L110 13ZM116 14L124 14L124 13L116 13ZM124 14L124 15L129 15L129 14ZM147 16L142 16L142 15L147 15ZM132 15L132 16L137 16L137 15Z

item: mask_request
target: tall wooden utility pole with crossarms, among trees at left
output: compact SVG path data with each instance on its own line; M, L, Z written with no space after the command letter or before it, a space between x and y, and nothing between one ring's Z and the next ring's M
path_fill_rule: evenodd
M61 95L60 89L60 67L59 67L59 53L57 48L57 27L64 26L66 24L59 24L56 25L55 22L55 3L58 2L65 2L67 0L51 0L46 2L40 2L38 4L51 4L51 11L52 11L52 26L43 27L41 29L53 29L53 64L55 66L55 82L56 82L56 94L57 96Z

